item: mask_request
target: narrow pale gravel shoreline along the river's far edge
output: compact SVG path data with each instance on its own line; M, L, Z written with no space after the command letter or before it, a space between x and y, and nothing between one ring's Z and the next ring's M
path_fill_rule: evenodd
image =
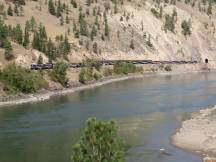
M202 70L194 70L191 71L193 72L204 72ZM104 78L103 80L100 81L95 81L93 83L88 83L88 84L81 84L79 86L75 87L69 87L65 88L62 90L55 90L55 91L46 91L44 93L35 93L35 94L29 94L25 95L23 97L20 97L18 99L9 99L6 101L0 101L0 108L2 107L7 107L7 106L13 106L13 105L21 105L25 103L35 103L35 102L42 102L45 100L51 99L51 97L54 96L61 96L61 95L66 95L66 94L71 94L77 91L82 91L82 90L87 90L87 89L92 89L96 88L105 84L113 83L113 82L119 82L123 80L129 80L129 79L136 79L136 78L143 78L147 76L154 76L154 75L177 75L177 74L184 74L188 73L187 71L180 71L180 72L147 72L143 74L128 74L124 76L115 76L115 77L108 77Z

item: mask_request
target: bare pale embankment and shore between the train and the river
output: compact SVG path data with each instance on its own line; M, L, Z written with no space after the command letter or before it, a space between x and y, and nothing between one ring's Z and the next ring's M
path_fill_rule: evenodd
M103 79L97 81L88 82L86 84L79 83L78 75L80 69L71 69L70 72L71 76L69 77L69 79L72 79L70 80L72 84L68 88L60 87L54 90L43 90L35 94L20 94L16 96L4 96L0 98L0 107L40 102L40 101L48 100L53 96L66 95L73 92L99 87L105 84L109 84L117 81L123 81L127 79L148 77L151 75L178 75L181 73L206 71L206 69L203 69L203 64L172 64L172 65L145 64L145 65L137 65L137 66L143 68L142 73L134 73L128 75L112 75L109 77L104 77ZM107 68L107 66L102 67L102 70L105 68ZM109 68L112 68L112 66L109 65Z

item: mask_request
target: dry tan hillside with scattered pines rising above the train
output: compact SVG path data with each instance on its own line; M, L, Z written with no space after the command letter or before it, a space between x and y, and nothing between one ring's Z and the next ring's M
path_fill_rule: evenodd
M24 30L26 21L33 16L38 26L41 23L46 27L52 40L66 34L72 47L68 60L72 62L86 57L198 61L208 58L210 63L216 60L214 3L212 13L208 15L210 2L203 1L76 0L76 8L73 1L59 2L66 6L61 16L50 13L48 0L26 1L18 16L9 16L8 7L15 8L14 3L1 1L4 4L2 17L6 13L6 24L21 24ZM59 2L53 1L56 10ZM81 32L80 13L84 16L88 34L77 37L74 28L76 26ZM189 24L190 34L183 34L183 21ZM92 38L93 27L96 34ZM25 49L16 43L13 47L15 61L22 65L29 66L40 55L32 51L32 47ZM7 61L1 48L0 54L3 66ZM47 60L46 55L41 55Z

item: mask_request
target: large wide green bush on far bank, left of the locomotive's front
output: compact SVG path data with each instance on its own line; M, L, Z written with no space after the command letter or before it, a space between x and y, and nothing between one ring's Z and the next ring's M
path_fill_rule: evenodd
M15 64L6 66L0 73L4 90L9 92L32 93L47 87L39 72L32 72Z

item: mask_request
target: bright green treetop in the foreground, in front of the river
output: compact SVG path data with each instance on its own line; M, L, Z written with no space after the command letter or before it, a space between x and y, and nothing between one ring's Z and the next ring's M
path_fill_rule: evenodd
M87 121L79 143L74 145L73 162L123 162L125 147L114 121Z

